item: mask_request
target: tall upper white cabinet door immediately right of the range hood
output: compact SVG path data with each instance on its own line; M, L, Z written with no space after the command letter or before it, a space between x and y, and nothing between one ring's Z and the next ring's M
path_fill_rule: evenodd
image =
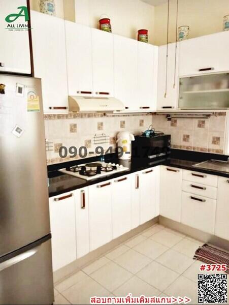
M114 96L128 110L139 110L138 41L114 35Z

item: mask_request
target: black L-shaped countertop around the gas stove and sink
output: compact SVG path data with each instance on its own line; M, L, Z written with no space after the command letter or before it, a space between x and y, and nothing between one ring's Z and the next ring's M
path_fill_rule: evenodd
M207 155L207 156L204 156ZM206 159L207 158L207 159ZM99 158L97 158L98 160ZM187 160L185 160L187 159ZM137 171L141 171L144 169L148 169L151 167L155 167L158 165L166 165L166 166L172 166L172 167L177 167L177 168L182 168L182 169L187 169L187 170L192 170L192 171L197 171L197 172L203 172L203 173L208 173L208 174L213 174L213 175L218 175L218 176L223 176L223 177L229 177L229 174L226 172L219 172L219 171L213 171L213 170L207 170L207 169L201 169L201 168L196 168L193 167L194 164L202 161L206 161L209 159L217 159L217 160L227 160L227 156L221 156L221 155L210 155L210 154L203 154L203 153L194 153L194 152L187 152L184 150L179 150L176 151L175 149L172 151L171 158L168 159L163 159L163 158L158 158L155 161L151 161L150 163L146 159L132 159L128 161L121 161L117 159L117 156L115 154L109 155L106 157L106 162L111 162L111 163L119 163L122 164L125 167L128 167L129 170L113 174L107 177L103 178L96 178L94 180L84 180L80 179L68 174L62 174L58 171L59 168L64 168L66 167L66 164L58 164L55 166L49 166L48 167L48 177L49 177L49 197L60 195L62 193L66 192L71 192L76 189L81 189L93 184L97 184L112 178L117 178L126 174L134 173ZM71 162L71 166L80 164L80 163L86 163L86 162L92 162L95 160L81 160L80 161L75 161ZM147 162L146 162L147 161Z

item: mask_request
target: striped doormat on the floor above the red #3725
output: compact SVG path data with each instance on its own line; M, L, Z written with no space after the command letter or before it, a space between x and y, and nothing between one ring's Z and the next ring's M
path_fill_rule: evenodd
M226 272L229 273L229 253L211 247L207 243L195 251L193 259L206 264L226 264Z

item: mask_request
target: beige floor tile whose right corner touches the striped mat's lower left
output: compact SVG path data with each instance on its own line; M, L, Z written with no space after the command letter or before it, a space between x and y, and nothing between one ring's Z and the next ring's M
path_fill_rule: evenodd
M194 260L172 249L159 256L156 261L178 273L183 273Z

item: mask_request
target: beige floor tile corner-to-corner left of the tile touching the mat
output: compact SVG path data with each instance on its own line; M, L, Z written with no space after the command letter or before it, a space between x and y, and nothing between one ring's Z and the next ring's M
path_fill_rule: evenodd
M116 262L121 267L125 268L129 272L137 273L146 265L152 262L151 259L142 255L141 253L130 249L129 251L123 253L117 257L114 262Z

